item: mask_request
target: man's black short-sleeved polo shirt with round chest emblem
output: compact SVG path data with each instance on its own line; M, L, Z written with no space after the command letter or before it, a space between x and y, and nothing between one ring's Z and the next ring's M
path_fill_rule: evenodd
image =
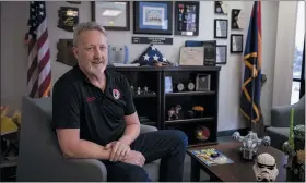
M76 65L54 85L52 121L56 129L80 129L80 138L106 145L122 136L123 115L136 112L127 78L105 70L102 91Z

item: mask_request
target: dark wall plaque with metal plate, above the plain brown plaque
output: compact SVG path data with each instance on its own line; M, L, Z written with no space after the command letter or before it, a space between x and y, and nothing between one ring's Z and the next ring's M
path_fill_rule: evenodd
M61 7L58 16L58 27L73 32L73 27L79 24L79 8Z

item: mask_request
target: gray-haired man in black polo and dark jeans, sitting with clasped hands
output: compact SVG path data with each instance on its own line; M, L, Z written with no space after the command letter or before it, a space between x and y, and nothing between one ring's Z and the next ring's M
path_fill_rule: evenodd
M67 158L95 158L107 181L146 182L143 164L161 160L160 181L183 180L187 136L177 130L140 134L140 121L127 78L107 70L105 29L79 24L73 35L78 65L63 74L52 93L52 118Z

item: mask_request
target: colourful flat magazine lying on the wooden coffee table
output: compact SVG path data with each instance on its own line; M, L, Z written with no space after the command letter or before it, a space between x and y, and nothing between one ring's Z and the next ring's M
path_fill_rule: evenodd
M233 163L234 161L214 148L190 150L198 159L207 166L220 166ZM211 155L217 155L216 157Z

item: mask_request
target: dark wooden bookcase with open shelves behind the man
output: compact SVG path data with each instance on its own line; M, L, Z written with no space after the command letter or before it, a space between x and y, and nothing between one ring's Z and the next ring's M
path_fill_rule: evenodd
M219 80L221 66L108 66L109 70L126 76L131 86L149 87L156 94L133 94L134 106L140 115L141 124L155 125L158 130L179 130L189 139L188 147L217 144L217 109L219 109ZM170 76L173 85L181 82L196 82L198 74L210 74L209 91L173 91L165 93L165 77ZM193 106L203 106L204 118L188 118L188 112L181 112L178 120L168 120L170 107L180 105L181 108L192 109ZM153 107L154 106L154 107ZM148 117L141 118L141 115ZM197 117L195 114L195 117ZM200 115L199 115L200 117ZM198 126L205 126L210 131L210 138L198 141L195 131Z

